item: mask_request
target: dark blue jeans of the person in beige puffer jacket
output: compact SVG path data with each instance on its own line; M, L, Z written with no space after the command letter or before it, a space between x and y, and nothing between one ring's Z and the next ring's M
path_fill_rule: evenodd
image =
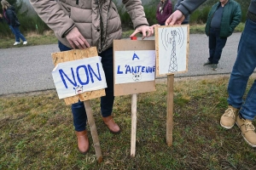
M61 51L68 51L68 48L59 42ZM108 48L99 56L102 57L102 67L105 72L108 88L105 88L106 96L101 97L101 112L103 117L111 116L113 111L113 48ZM86 129L87 116L84 108L84 102L79 101L71 106L73 113L73 126L76 131L84 131Z

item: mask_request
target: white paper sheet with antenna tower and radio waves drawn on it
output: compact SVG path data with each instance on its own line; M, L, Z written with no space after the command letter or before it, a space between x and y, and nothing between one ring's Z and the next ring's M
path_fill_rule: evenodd
M187 71L188 27L158 28L159 74Z

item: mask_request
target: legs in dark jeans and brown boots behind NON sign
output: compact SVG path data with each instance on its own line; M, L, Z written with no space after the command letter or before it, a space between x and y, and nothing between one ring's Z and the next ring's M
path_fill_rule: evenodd
M59 42L61 51L68 51L68 48ZM105 72L108 88L105 88L106 96L101 97L101 113L103 122L108 126L111 133L119 133L119 126L113 121L111 116L113 111L113 48L108 48L99 54L102 57L102 67ZM87 116L84 108L84 102L79 101L71 106L73 113L73 126L78 139L79 151L86 154L90 149L89 139L86 131Z

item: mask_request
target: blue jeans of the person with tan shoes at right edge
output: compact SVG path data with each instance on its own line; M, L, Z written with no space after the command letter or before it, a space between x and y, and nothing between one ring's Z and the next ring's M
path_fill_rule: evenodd
M247 20L244 31L241 34L237 58L230 75L228 87L229 105L241 108L241 116L249 120L253 120L256 116L256 80L254 80L244 103L242 96L246 91L248 79L256 67L255 39L256 22Z

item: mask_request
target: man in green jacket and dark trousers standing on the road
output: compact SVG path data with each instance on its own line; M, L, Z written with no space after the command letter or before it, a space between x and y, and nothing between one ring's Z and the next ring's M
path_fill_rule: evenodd
M218 68L227 38L241 21L241 7L234 0L219 0L208 14L206 34L209 37L209 58L204 64L211 65L212 71Z

